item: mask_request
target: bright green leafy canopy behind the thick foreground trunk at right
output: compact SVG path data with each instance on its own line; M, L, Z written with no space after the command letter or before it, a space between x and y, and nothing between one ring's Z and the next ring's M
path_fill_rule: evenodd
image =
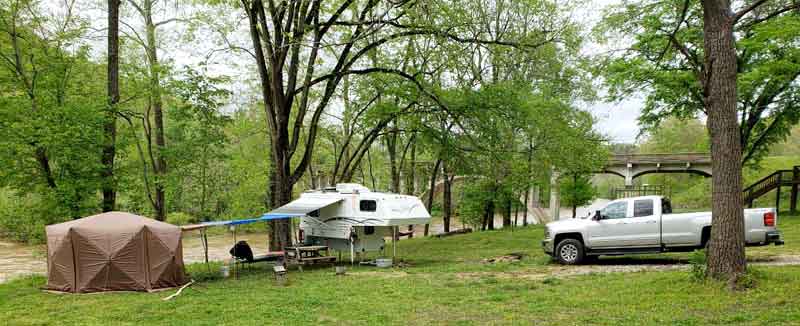
M685 17L683 4L689 4ZM738 103L745 163L757 165L770 146L800 121L800 17L789 12L769 16L788 0L772 1L737 24ZM684 18L681 20L681 18ZM596 35L630 46L609 51L597 73L611 99L647 95L639 118L655 131L670 117L703 114L703 19L700 1L639 0L610 7ZM674 37L671 36L674 33ZM768 109L769 108L769 109Z

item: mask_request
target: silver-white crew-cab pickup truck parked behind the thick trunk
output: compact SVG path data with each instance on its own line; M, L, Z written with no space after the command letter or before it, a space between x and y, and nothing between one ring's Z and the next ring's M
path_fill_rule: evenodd
M774 208L744 210L748 246L782 245ZM644 196L618 199L593 215L548 223L542 247L562 264L579 264L600 255L692 251L711 236L711 212L672 214L668 199Z

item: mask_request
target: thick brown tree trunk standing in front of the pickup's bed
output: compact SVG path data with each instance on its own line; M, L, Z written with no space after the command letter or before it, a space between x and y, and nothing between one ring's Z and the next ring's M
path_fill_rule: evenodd
M704 0L705 107L711 134L712 227L709 276L745 273L742 151L736 109L734 17L728 0Z

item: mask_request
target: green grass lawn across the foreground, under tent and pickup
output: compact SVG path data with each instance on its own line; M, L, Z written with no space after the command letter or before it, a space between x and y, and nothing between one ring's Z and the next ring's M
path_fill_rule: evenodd
M749 248L748 255L800 254L800 218L783 214L779 227L786 235L786 246ZM44 293L38 290L44 277L33 276L0 284L0 320L9 325L761 325L800 321L800 266L757 267L757 287L737 293L722 284L690 281L687 271L554 278L547 275L573 267L549 263L539 248L541 237L541 227L529 227L402 241L399 252L409 267L352 268L347 276L334 276L329 268L291 270L286 287L274 285L263 265L239 280L208 278L204 265L192 265L193 277L204 281L169 302L161 298L172 291ZM481 262L511 252L527 256L516 263ZM686 254L668 257L685 259Z

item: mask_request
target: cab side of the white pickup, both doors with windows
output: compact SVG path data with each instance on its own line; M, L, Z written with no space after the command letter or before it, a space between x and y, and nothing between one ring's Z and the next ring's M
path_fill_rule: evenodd
M653 199L612 202L600 211L601 219L589 227L594 249L659 246L658 216Z

